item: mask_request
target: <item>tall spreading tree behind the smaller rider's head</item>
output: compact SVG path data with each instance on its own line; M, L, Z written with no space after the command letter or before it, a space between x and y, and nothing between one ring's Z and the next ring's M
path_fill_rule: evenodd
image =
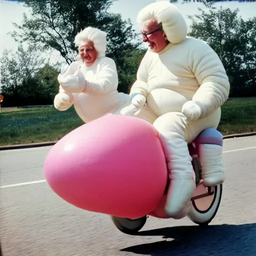
M57 50L70 64L77 55L75 35L86 26L107 32L107 54L121 64L122 51L137 48L139 42L130 20L107 10L112 0L25 0L31 18L23 14L21 25L14 23L11 34L19 42L36 45L40 50Z

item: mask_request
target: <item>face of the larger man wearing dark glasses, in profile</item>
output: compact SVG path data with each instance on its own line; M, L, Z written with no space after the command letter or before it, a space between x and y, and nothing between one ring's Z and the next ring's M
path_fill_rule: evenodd
M156 19L149 19L142 23L142 40L148 43L151 51L159 52L167 45L165 33L158 28Z

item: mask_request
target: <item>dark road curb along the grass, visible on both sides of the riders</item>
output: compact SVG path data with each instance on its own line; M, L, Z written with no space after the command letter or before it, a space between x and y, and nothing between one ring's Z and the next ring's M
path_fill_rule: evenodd
M254 132L247 132L247 133L236 133L236 134L224 135L223 139L235 138L235 137L248 137L248 136L253 136L253 135L256 135L256 131L254 131ZM6 145L6 146L0 146L0 151L1 150L10 150L10 149L22 149L22 148L52 146L56 142L57 141L49 141L49 142L31 143L31 144Z

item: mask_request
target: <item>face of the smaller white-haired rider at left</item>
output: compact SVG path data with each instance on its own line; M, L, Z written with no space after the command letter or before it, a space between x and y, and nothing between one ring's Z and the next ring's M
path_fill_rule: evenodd
M98 53L94 48L94 44L92 41L83 41L79 45L79 53L82 62L85 62L87 66L91 66L98 56Z

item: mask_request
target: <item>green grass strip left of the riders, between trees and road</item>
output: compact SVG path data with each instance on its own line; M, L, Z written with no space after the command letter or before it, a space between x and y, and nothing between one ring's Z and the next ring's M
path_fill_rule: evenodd
M54 141L83 124L73 107L14 108L0 111L0 145Z

